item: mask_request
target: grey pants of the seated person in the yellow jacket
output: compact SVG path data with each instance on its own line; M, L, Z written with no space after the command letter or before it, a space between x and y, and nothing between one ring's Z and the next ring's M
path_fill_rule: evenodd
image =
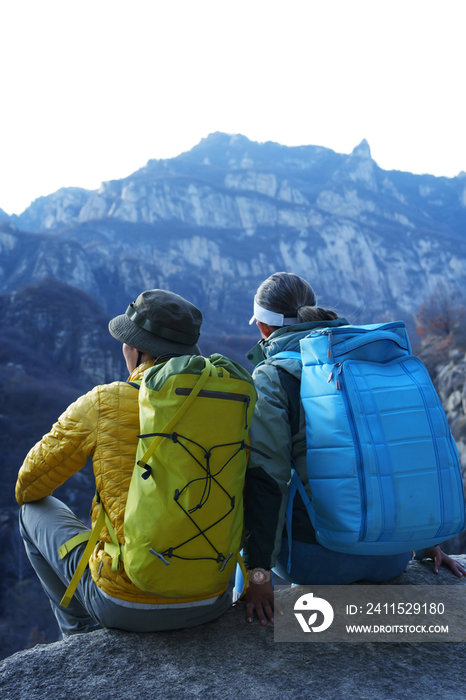
M215 620L230 606L229 592L214 603L187 608L141 610L126 608L106 597L86 568L68 608L60 600L76 570L86 544L60 559L58 548L89 528L64 503L53 496L26 503L20 511L19 526L29 561L46 592L64 637L113 627L129 632L195 627Z

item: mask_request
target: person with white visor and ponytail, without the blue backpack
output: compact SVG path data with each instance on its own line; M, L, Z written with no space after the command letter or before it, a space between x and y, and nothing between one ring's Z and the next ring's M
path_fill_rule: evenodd
M247 470L243 558L248 575L247 620L252 622L255 610L261 624L267 625L268 620L274 621L272 570L285 581L302 585L388 581L404 571L412 558L413 547L406 545L406 551L394 554L383 553L382 546L380 554L377 548L370 554L352 553L351 547L336 551L319 543L311 522L313 494L308 473L306 416L300 393L300 341L311 333L319 336L322 331L321 335L329 339L331 357L332 336L342 333L348 321L317 306L314 291L304 279L278 272L257 290L252 323L256 323L262 336L247 355L256 368L253 378L258 391L250 439L259 452L251 453ZM387 337L394 335L391 330L386 333ZM402 345L401 340L395 340ZM409 340L407 343L410 350ZM335 370L328 373L329 387L335 383L338 387L340 366L341 363L334 364ZM324 402L319 420L329 420L325 410ZM308 419L308 423L312 421ZM316 425L316 430L319 429ZM338 441L337 433L338 426L335 431ZM269 459L261 453L269 455ZM292 499L291 490L296 491ZM464 499L462 503L464 518ZM339 502L332 503L332 508L336 512ZM423 557L434 560L435 572L445 564L458 577L466 574L438 546L418 551L416 558ZM237 591L241 590L239 578Z

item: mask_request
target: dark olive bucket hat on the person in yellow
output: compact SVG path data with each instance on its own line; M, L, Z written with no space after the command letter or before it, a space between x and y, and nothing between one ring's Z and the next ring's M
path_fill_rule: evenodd
M149 289L112 318L111 335L152 357L166 354L200 355L197 346L202 324L199 309L174 292Z

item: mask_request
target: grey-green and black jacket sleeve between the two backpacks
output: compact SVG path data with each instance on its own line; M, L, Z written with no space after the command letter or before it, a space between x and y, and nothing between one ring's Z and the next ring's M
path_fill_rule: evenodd
M289 399L274 365L261 365L253 377L258 400L250 430L251 445L271 459L256 452L249 457L243 555L247 568L271 568L280 551L291 478Z

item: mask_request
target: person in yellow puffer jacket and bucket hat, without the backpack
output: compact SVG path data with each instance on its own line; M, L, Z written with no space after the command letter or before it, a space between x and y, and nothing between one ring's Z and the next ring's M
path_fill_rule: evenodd
M201 323L199 309L177 294L160 289L140 294L125 314L109 323L110 333L123 343L128 382L97 386L71 404L30 450L19 471L21 535L63 636L99 627L132 632L192 627L219 617L230 605L227 592L170 603L163 591L160 596L141 591L123 567L112 571L112 559L104 549L111 538L104 527L69 607L60 606L86 543L63 559L58 549L88 528L51 494L92 457L97 493L118 542L124 543L124 512L139 433L138 391L129 382L142 379L157 362L199 355ZM93 525L97 511L94 499Z

